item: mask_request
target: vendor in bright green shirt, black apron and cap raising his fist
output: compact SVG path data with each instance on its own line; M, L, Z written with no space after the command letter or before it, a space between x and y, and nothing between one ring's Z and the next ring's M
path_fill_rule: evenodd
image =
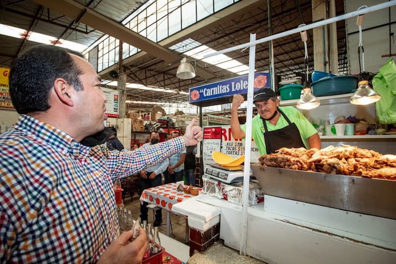
M238 119L238 107L244 103L242 95L234 95L231 106L231 133L234 138L245 138L246 124ZM279 106L273 90L263 88L253 97L257 115L252 119L251 137L260 155L286 148L320 149L320 137L305 116L293 106Z

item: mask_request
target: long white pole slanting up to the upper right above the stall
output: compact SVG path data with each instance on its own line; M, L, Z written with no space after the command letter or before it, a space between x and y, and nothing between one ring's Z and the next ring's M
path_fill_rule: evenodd
M304 31L304 30L320 27L320 26L323 26L323 25L327 25L327 24L330 24L330 23L341 21L341 20L344 20L344 19L347 19L347 18L351 18L351 17L357 16L357 15L363 15L363 14L366 14L366 13L370 13L370 12L377 11L377 10L380 10L380 9L383 9L383 8L387 8L387 7L391 7L391 6L394 6L394 5L396 5L396 0L392 0L392 1L384 2L384 3L376 4L376 5L361 9L361 10L356 10L356 11L353 11L353 12L350 12L350 13L347 13L347 14L344 14L344 15L332 17L332 18L325 19L325 20L321 20L321 21L318 21L318 22L315 22L315 23L312 23L312 24L309 24L309 25L306 25L306 26L303 26L303 27L291 29L291 30L284 31L284 32L281 32L281 33L278 33L278 34L275 34L275 35L272 35L272 36L268 36L268 37L265 37L265 38L262 38L262 39L259 39L259 40L256 40L256 41L252 41L252 42L248 42L248 43L245 43L245 44L241 44L241 45L235 46L233 48L228 48L228 49L224 49L224 50L221 50L221 51L218 51L218 52L215 52L215 53L206 54L206 55L203 55L203 57L207 58L207 57L211 57L211 56L215 56L215 55L219 55L219 54L223 54L223 53L233 52L233 51L236 51L236 50L242 50L242 49L244 49L246 47L249 47L249 46L254 46L254 45L257 45L257 44L260 44L260 43L263 43L263 42L267 42L267 41L270 41L270 40L276 40L276 39L279 39L279 38L282 38L282 37L286 37L286 36L289 36L289 35L292 35L292 34L299 33L300 31Z

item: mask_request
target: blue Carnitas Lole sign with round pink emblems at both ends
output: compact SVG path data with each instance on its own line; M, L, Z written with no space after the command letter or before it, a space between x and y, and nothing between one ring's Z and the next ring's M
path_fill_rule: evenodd
M236 94L247 94L247 75L190 88L190 104L219 99ZM254 73L254 91L269 88L269 73ZM224 104L227 102L224 102Z

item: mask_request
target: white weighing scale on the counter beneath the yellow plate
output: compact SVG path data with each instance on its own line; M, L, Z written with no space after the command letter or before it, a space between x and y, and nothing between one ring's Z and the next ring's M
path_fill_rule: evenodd
M216 163L207 164L205 175L224 183L240 182L244 180L244 166L225 167ZM250 171L250 178L253 173Z

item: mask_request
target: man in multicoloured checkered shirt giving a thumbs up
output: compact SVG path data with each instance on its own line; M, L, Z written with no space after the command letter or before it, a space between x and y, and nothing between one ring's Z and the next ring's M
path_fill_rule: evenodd
M112 181L202 140L200 127L139 151L109 151L107 102L81 53L20 54L9 93L20 114L0 135L0 263L141 263L147 235L119 233Z

